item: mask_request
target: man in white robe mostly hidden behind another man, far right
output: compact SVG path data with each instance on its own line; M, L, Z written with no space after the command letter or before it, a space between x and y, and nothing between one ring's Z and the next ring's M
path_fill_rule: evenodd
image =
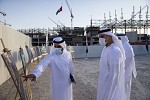
M121 39L122 45L125 50L125 93L126 100L130 100L132 73L134 78L136 78L137 76L134 60L134 51L132 46L129 44L128 37L125 36L125 34L117 34L117 36Z

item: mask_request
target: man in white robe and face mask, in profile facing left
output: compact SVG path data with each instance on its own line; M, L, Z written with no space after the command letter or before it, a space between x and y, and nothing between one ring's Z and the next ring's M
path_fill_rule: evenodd
M97 100L125 100L123 46L111 29L101 29L99 43L104 46L100 58Z

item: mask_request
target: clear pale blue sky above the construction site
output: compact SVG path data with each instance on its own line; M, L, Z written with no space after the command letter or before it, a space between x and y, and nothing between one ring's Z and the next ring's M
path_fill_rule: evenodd
M149 0L68 0L68 2L74 15L74 27L90 25L91 15L93 19L104 19L106 13L108 19L110 11L114 18L116 10L119 19L123 8L124 19L129 19L133 6L135 12L140 10L140 6L150 6ZM61 5L63 11L56 15ZM48 17L55 22L59 20L65 26L71 26L70 12L65 0L0 0L0 11L7 14L5 17L0 15L0 21L6 20L14 29L56 27ZM145 12L146 10L143 10L143 17Z

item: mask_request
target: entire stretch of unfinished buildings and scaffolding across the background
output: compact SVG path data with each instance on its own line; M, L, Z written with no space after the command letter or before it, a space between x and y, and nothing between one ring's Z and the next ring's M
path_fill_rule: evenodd
M142 11L146 12L145 15L142 15ZM138 18L136 18L137 16ZM109 19L106 18L104 13L103 20L91 19L91 24L85 28L66 27L62 24L57 25L57 27L54 27L53 29L20 29L18 31L29 35L32 38L33 46L44 45L46 43L46 36L48 37L47 40L49 45L52 45L52 39L54 37L61 36L66 41L67 45L83 46L97 45L99 40L97 33L102 27L111 28L113 33L126 34L131 44L148 43L150 42L149 6L146 5L143 8L140 7L140 10L137 13L135 13L133 7L131 18L128 20L124 20L123 9L121 8L120 19L117 18L116 11L114 19L112 19L110 12Z

